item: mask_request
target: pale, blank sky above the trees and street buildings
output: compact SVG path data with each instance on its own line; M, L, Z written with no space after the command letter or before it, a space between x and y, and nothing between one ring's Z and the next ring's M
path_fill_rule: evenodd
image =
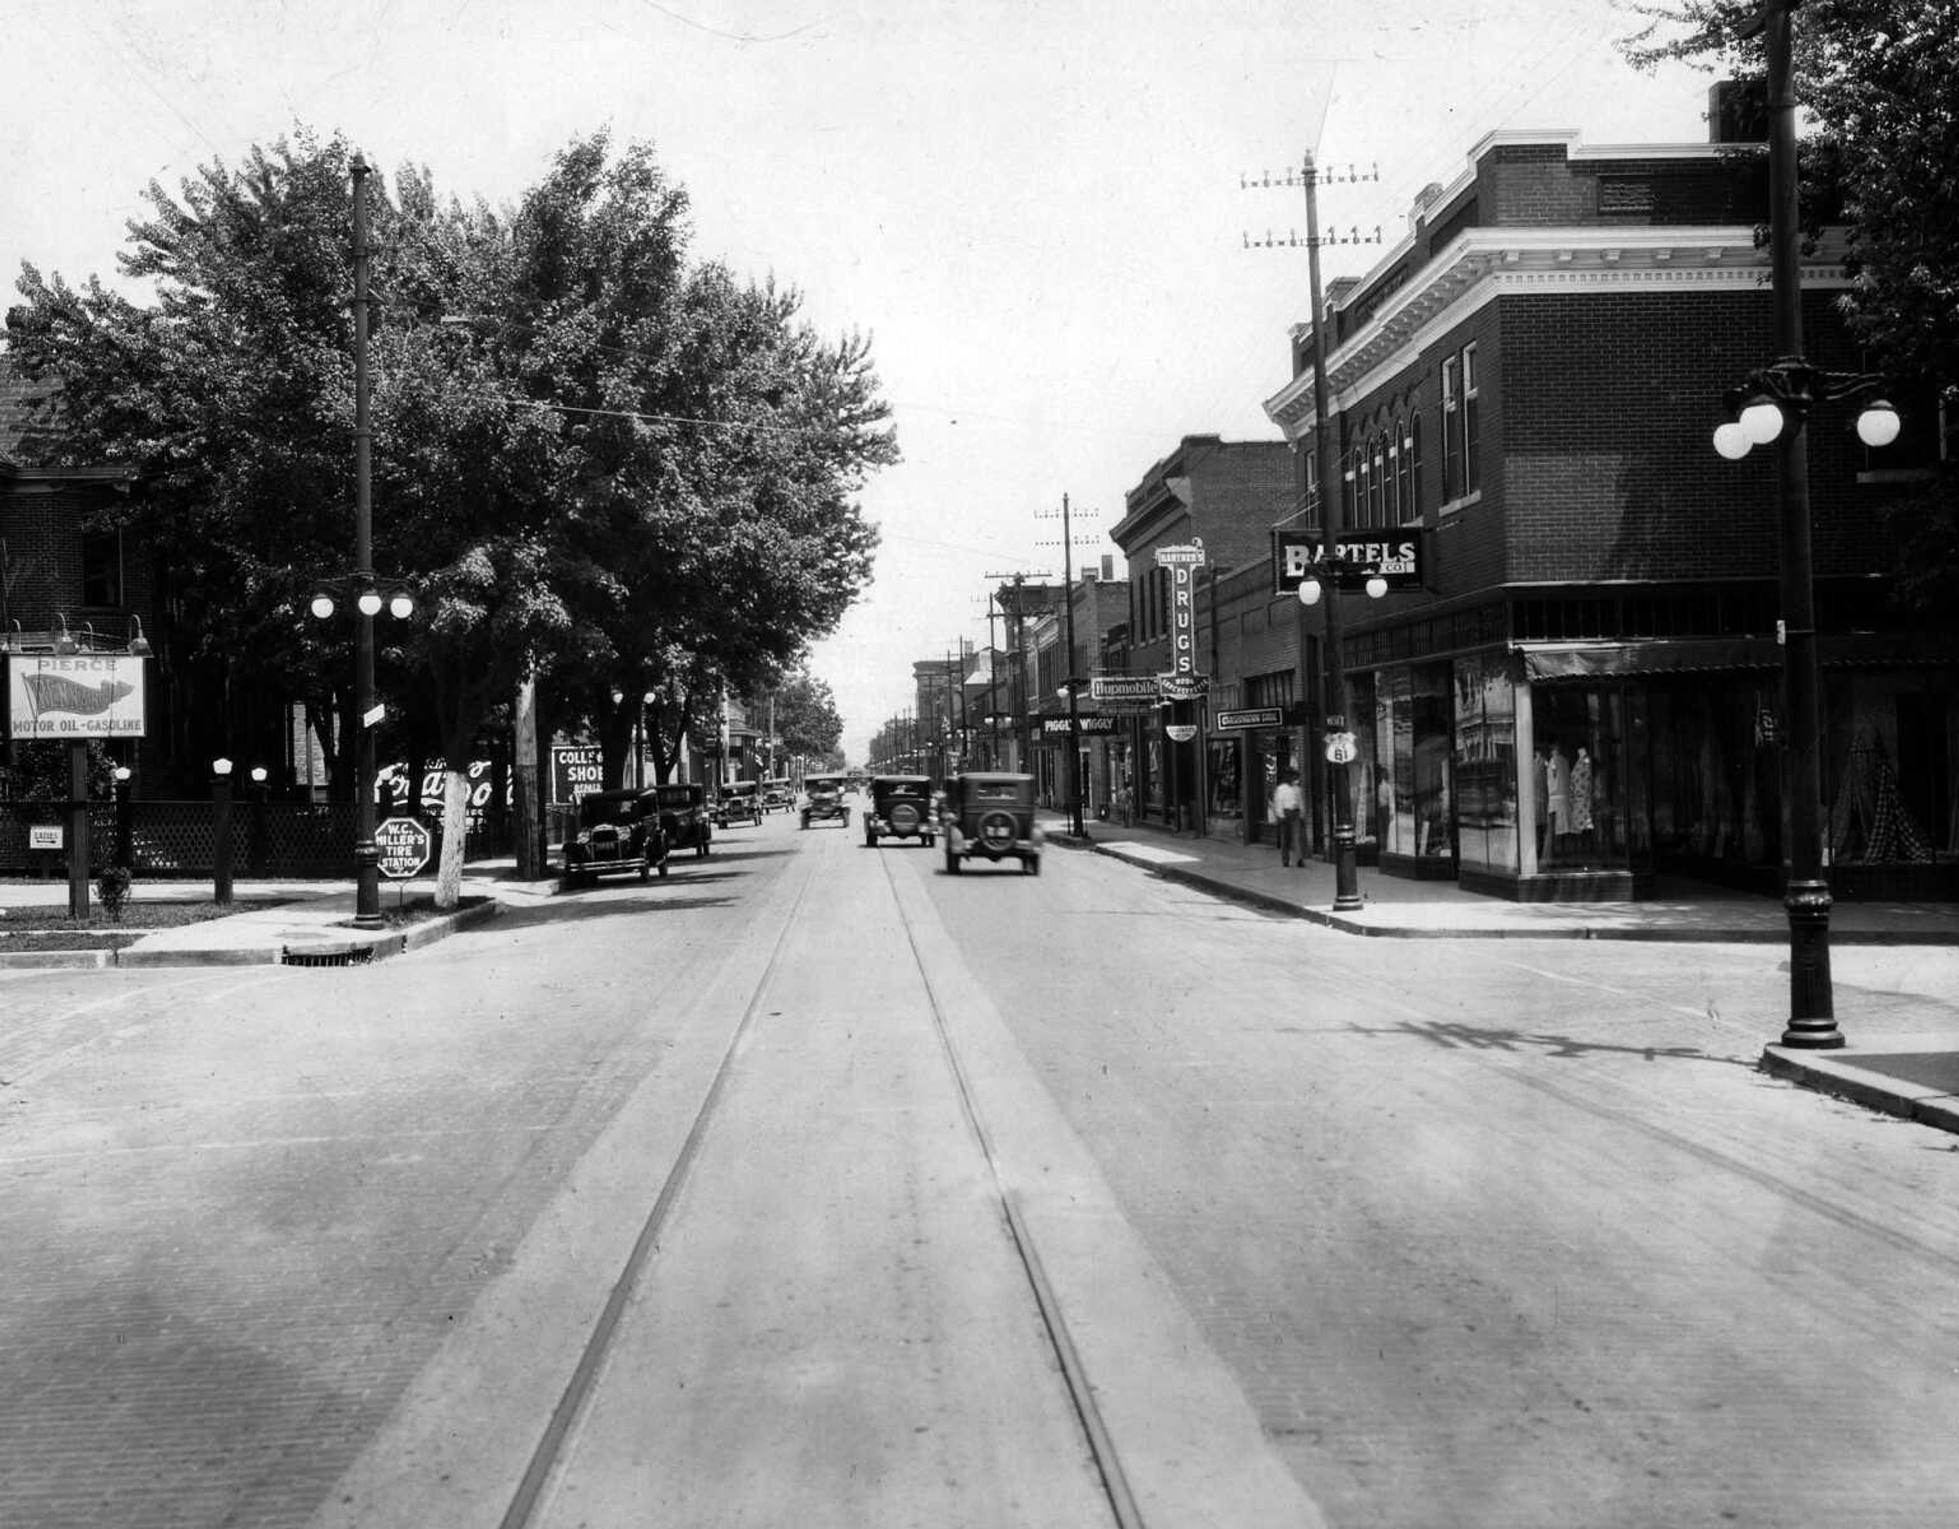
M515 200L572 137L654 147L701 261L872 341L903 461L876 578L811 651L862 761L915 659L987 641L997 574L1117 549L1183 435L1277 439L1316 151L1379 178L1320 218L1362 274L1487 133L1706 139L1708 76L1642 74L1610 0L10 0L6 302L24 261L114 278L151 182L296 127L390 180ZM386 506L376 506L376 516ZM1117 561L1121 572L1121 559Z

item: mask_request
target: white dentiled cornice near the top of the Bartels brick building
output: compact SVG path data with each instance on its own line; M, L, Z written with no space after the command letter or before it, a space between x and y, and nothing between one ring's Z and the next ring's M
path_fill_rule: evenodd
M1755 229L1718 227L1473 227L1416 280L1387 296L1362 329L1326 357L1328 406L1338 412L1405 369L1436 335L1505 296L1553 292L1755 292L1769 261ZM1841 235L1802 265L1802 286L1841 290ZM1293 325L1295 343L1311 325ZM1266 400L1289 441L1313 429L1313 369Z

